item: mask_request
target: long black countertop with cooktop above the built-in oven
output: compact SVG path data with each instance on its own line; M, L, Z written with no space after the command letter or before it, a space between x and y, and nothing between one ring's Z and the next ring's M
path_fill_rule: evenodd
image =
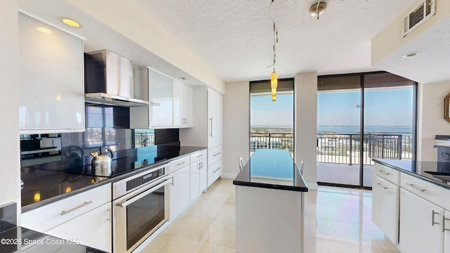
M48 205L52 202L82 193L85 190L90 190L105 183L112 183L124 179L127 176L137 174L162 164L167 164L171 160L191 155L191 153L203 149L205 149L205 147L180 146L179 148L164 150L162 154L158 153L158 156L156 153L152 152L134 152L136 153L136 157L127 157L125 159L127 161L125 162L113 162L113 171L115 169L125 171L127 169L130 170L117 174L117 176L112 178L101 178L84 173L90 171L90 165L84 166L82 174L73 173L74 168L52 168L51 165L49 165L51 163L46 164L46 166L40 165L37 169L34 167L22 167L20 170L20 178L24 182L23 189L21 190L22 212ZM148 161L148 164L143 165L141 162L134 162L144 159ZM77 168L75 168L75 172L77 172L76 170Z

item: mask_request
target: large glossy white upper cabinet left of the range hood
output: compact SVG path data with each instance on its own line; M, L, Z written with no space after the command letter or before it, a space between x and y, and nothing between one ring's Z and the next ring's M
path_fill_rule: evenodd
M82 39L18 18L20 134L84 131Z

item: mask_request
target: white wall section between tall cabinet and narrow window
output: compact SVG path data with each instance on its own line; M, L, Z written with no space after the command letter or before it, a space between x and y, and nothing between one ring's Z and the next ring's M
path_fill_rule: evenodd
M224 96L224 177L235 178L239 157L250 156L250 83L225 84Z

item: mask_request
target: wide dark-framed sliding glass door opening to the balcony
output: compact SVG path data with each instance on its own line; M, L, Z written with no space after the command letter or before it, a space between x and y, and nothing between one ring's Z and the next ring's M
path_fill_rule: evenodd
M373 158L411 160L416 84L386 72L318 79L317 180L371 187Z

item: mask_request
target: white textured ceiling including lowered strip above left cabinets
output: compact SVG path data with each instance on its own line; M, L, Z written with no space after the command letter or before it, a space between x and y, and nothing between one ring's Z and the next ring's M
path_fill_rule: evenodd
M269 79L273 31L269 0L123 0L136 6L225 82ZM275 0L279 31L278 77L299 72L342 74L379 70L371 66L371 39L416 0L327 0L319 20L309 15L316 0ZM58 18L82 20L86 51L107 48L136 65L148 65L186 83L188 73L145 51L95 17L61 0L20 0L20 9L60 27ZM120 16L118 17L120 18ZM71 28L69 28L71 29Z

